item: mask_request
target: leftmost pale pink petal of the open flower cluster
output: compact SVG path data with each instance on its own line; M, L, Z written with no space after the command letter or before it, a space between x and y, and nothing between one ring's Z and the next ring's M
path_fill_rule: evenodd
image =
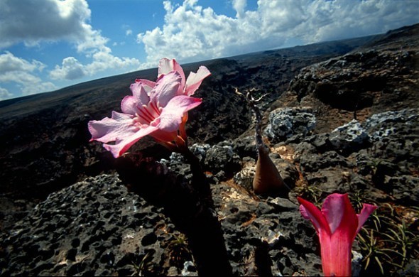
M88 127L92 139L90 141L109 142L115 141L118 137L124 137L126 134L132 134L138 131L134 126L134 116L112 111L112 118L105 117L97 121L89 121Z

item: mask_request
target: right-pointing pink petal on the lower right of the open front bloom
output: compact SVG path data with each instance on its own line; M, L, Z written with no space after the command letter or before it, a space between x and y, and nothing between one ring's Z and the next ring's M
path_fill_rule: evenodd
M202 99L180 95L173 97L158 116L158 129L163 131L178 131L182 123L183 114L202 103Z

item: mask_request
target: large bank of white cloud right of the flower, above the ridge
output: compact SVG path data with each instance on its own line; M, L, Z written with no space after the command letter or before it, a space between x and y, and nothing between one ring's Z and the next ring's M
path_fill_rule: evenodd
M181 5L164 1L165 22L137 35L148 63L162 56L182 62L278 48L295 41L315 43L383 33L417 23L418 1L233 0L236 16L202 8L197 0Z

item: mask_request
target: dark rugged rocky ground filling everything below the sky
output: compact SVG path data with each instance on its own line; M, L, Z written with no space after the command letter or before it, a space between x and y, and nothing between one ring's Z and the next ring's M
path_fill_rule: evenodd
M332 192L349 193L356 210L363 202L379 206L354 243L355 274L419 272L419 26L363 46L354 41L208 64L212 79L200 89L204 104L190 114L188 134L236 276L320 275L317 235L296 197L320 205ZM292 188L288 197L251 191L253 116L234 87L268 92L260 105L264 135ZM0 105L7 126L0 138L0 274L197 275L183 232L189 165L151 140L138 143L131 156L141 152L142 183L133 189L116 172L119 161L84 141L87 121L108 116L117 108L107 106L121 99L87 112L81 102L111 95L90 90L60 109L52 103L62 99L38 99L45 107L38 113L13 108L28 100Z

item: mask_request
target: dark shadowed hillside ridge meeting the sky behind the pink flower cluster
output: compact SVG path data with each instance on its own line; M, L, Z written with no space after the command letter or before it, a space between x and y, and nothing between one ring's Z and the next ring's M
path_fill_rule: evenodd
M236 139L249 129L251 111L243 99L236 97L234 87L261 89L268 93L263 109L273 109L271 104L288 89L303 67L365 48L363 45L374 48L385 45L386 41L400 44L403 40L413 40L417 33L418 25L415 25L383 35L183 65L186 75L200 65L212 72L197 92L197 97L202 97L204 102L190 112L187 124L190 143ZM120 111L121 99L131 93L129 85L136 78L156 80L156 77L156 68L141 70L0 102L2 194L43 199L75 180L112 168L114 158L100 143L89 142L87 122L110 116L112 110ZM169 155L152 139L141 140L131 151L158 158Z

